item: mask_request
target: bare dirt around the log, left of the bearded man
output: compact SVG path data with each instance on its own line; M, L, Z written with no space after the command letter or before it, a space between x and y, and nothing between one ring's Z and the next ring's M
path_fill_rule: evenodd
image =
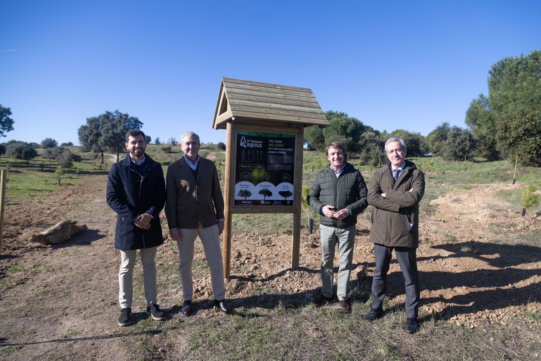
M107 176L64 187L45 201L17 202L6 212L0 318L5 359L85 356L114 359L109 319L116 312L114 220L104 199ZM78 215L88 230L62 245L24 244L31 234ZM11 270L11 271L10 271ZM18 272L13 271L20 270ZM6 281L9 280L9 281ZM100 299L105 298L104 301ZM59 343L60 342L60 343ZM71 357L69 357L71 358Z

